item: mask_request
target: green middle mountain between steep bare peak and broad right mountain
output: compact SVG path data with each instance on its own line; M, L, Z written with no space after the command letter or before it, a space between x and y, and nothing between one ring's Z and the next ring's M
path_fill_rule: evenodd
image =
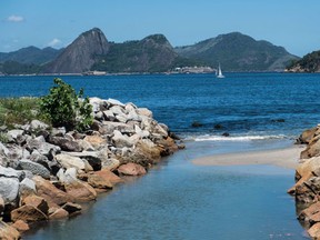
M91 70L107 72L164 72L182 60L163 34L140 41L112 43ZM194 62L192 62L194 63Z

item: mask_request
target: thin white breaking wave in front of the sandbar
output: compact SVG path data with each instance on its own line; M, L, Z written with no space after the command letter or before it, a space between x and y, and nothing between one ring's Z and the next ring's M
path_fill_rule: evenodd
M203 134L203 136L189 136L184 140L189 141L254 141L254 140L277 140L277 139L290 139L290 137L284 134L278 136L212 136L212 134Z

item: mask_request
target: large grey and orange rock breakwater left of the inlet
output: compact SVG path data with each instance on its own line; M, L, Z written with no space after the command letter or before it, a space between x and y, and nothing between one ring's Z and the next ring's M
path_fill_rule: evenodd
M94 121L86 133L38 120L1 127L0 239L19 239L39 221L77 214L82 202L96 200L122 176L144 174L183 148L146 108L98 98L90 104Z

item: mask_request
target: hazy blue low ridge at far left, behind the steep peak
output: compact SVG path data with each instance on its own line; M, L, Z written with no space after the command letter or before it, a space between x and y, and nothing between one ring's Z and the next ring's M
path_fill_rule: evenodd
M56 59L62 50L53 48L39 49L31 46L13 52L0 52L0 63L13 61L22 64L44 64Z

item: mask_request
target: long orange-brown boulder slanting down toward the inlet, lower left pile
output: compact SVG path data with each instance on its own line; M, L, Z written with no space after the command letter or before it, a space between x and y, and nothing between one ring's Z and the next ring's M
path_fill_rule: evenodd
M73 198L67 194L64 191L56 188L50 181L36 176L32 179L36 182L38 196L47 200L49 207L63 206L66 202L72 202Z

